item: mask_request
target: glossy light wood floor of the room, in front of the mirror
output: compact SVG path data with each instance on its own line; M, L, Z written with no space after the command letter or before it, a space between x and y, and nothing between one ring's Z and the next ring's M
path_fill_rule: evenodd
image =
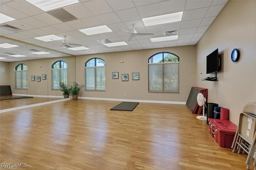
M0 114L0 162L25 170L246 170L186 105L68 100ZM250 169L254 167L251 166Z

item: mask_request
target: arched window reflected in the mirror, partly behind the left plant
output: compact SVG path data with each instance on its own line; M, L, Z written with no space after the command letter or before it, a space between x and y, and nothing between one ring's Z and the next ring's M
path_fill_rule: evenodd
M52 64L52 89L60 89L60 82L68 84L68 65L64 61Z

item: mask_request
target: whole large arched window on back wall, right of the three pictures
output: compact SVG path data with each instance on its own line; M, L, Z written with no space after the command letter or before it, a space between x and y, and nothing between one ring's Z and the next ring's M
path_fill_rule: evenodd
M148 59L148 91L179 92L179 57L156 53Z

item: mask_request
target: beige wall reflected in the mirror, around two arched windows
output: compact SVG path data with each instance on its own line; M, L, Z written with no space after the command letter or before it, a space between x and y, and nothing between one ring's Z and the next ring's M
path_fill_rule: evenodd
M16 61L9 64L9 77L12 93L14 94L28 94L28 95L49 95L60 96L60 90L52 90L52 72L51 66L56 61L65 61L68 64L68 85L72 85L75 81L75 57L58 57L49 59L36 59L28 61ZM24 63L28 66L28 89L14 89L14 68L16 65ZM2 72L1 72L2 74ZM46 80L42 80L42 74L46 74ZM41 81L31 81L31 76L40 76Z

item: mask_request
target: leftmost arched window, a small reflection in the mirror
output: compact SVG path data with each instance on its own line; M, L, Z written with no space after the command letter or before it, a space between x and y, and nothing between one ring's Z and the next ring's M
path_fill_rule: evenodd
M18 64L15 67L14 88L18 88L18 89L27 89L28 88L27 70L28 70L28 67L25 64Z

